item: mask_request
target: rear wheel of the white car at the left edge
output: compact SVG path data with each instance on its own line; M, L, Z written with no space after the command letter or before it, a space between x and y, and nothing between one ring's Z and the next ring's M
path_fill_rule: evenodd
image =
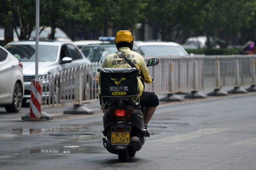
M22 87L21 84L16 82L14 86L14 91L13 91L13 103L10 105L5 106L5 110L10 113L14 112L17 113L21 110L21 105L22 105L22 98L23 98L23 92L22 92Z

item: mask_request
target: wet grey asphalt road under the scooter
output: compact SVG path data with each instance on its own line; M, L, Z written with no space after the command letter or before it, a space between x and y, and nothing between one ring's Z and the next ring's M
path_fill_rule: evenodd
M0 169L255 169L256 93L161 102L142 149L128 163L102 145L98 103L91 115L24 121L0 108ZM55 110L56 109L56 110Z

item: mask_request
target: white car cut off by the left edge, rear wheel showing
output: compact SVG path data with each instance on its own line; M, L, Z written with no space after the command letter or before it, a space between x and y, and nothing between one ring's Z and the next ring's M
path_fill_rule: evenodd
M7 112L21 110L24 95L22 63L0 46L0 106Z

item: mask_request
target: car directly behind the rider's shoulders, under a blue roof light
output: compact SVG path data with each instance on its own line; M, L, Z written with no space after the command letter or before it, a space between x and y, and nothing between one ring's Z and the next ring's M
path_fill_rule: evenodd
M84 46L81 51L91 62L97 62L103 61L107 55L117 52L117 47L114 43L88 44ZM144 53L136 45L133 46L133 51L144 55Z

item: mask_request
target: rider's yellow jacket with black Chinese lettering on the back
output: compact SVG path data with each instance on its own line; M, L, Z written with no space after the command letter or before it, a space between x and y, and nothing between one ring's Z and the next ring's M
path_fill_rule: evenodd
M135 65L137 69L139 69L139 76L141 79L149 84L152 83L152 79L149 75L149 70L145 64L144 58L135 51L131 51L128 47L121 47L119 51L122 51L125 54L125 57L131 61ZM124 59L120 58L116 53L109 54L102 62L102 68L130 68L131 66L124 61ZM98 75L100 79L100 73ZM138 88L139 88L139 96L141 96L143 92L143 84L141 80L138 78ZM101 95L100 86L98 89L99 96Z

